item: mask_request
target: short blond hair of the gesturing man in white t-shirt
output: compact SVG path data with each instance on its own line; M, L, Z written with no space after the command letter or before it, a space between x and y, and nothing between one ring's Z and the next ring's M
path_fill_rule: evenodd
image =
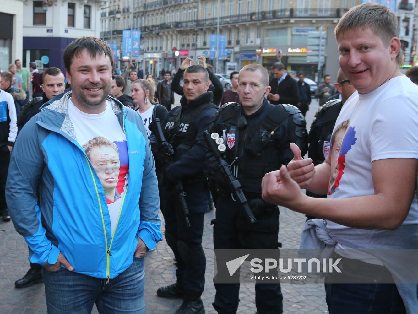
M355 28L371 28L384 44L389 44L390 38L399 37L399 24L395 13L378 3L363 3L347 11L334 29L336 40L338 41L339 36L345 31ZM401 55L400 51L396 56L398 63L401 62Z

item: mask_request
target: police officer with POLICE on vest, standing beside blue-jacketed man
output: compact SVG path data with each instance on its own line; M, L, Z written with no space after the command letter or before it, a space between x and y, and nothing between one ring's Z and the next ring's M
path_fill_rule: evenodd
M181 179L191 225L187 227L184 214L176 204L175 195L169 194L171 196L163 215L166 241L177 262L177 282L158 288L157 295L168 298L184 297L176 314L205 312L200 298L206 269L206 258L201 245L203 220L208 207L203 132L209 127L218 109L213 104L213 93L207 91L209 84L209 75L204 67L189 66L184 72L181 106L168 112L162 124L164 135L172 144L176 156L176 162L163 171L163 178L168 188L170 183Z

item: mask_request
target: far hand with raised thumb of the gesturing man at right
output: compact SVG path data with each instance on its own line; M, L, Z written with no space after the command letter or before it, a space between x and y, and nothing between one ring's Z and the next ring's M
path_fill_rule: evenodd
M290 149L294 157L287 166L288 174L303 189L314 179L315 165L312 158L302 158L301 150L295 143L290 143Z

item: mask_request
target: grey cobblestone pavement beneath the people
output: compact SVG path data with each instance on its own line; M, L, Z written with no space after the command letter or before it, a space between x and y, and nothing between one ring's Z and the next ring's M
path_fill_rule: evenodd
M318 108L314 101L306 120L310 124ZM161 215L162 218L162 215ZM216 314L212 307L215 288L213 285L214 253L213 236L210 221L214 212L205 214L203 248L206 253L206 284L202 296L206 313ZM304 225L303 214L280 208L279 242L283 248L298 248L301 229ZM164 230L164 224L161 226ZM46 313L45 291L43 284L36 284L24 289L14 288L16 279L22 277L29 268L28 248L14 229L11 222L0 221L0 313ZM179 299L163 299L155 291L175 281L173 254L163 240L155 250L148 252L145 259L145 301L147 313L174 313L180 306ZM282 284L284 313L327 313L323 284ZM240 288L240 306L238 313L254 314L254 284L242 284ZM97 310L93 309L93 313Z

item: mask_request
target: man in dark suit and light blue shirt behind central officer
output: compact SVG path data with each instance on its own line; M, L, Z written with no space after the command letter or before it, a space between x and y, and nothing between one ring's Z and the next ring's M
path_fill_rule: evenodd
M270 80L271 91L267 95L273 105L294 105L299 102L298 84L286 72L283 63L275 62L271 67L273 78Z

